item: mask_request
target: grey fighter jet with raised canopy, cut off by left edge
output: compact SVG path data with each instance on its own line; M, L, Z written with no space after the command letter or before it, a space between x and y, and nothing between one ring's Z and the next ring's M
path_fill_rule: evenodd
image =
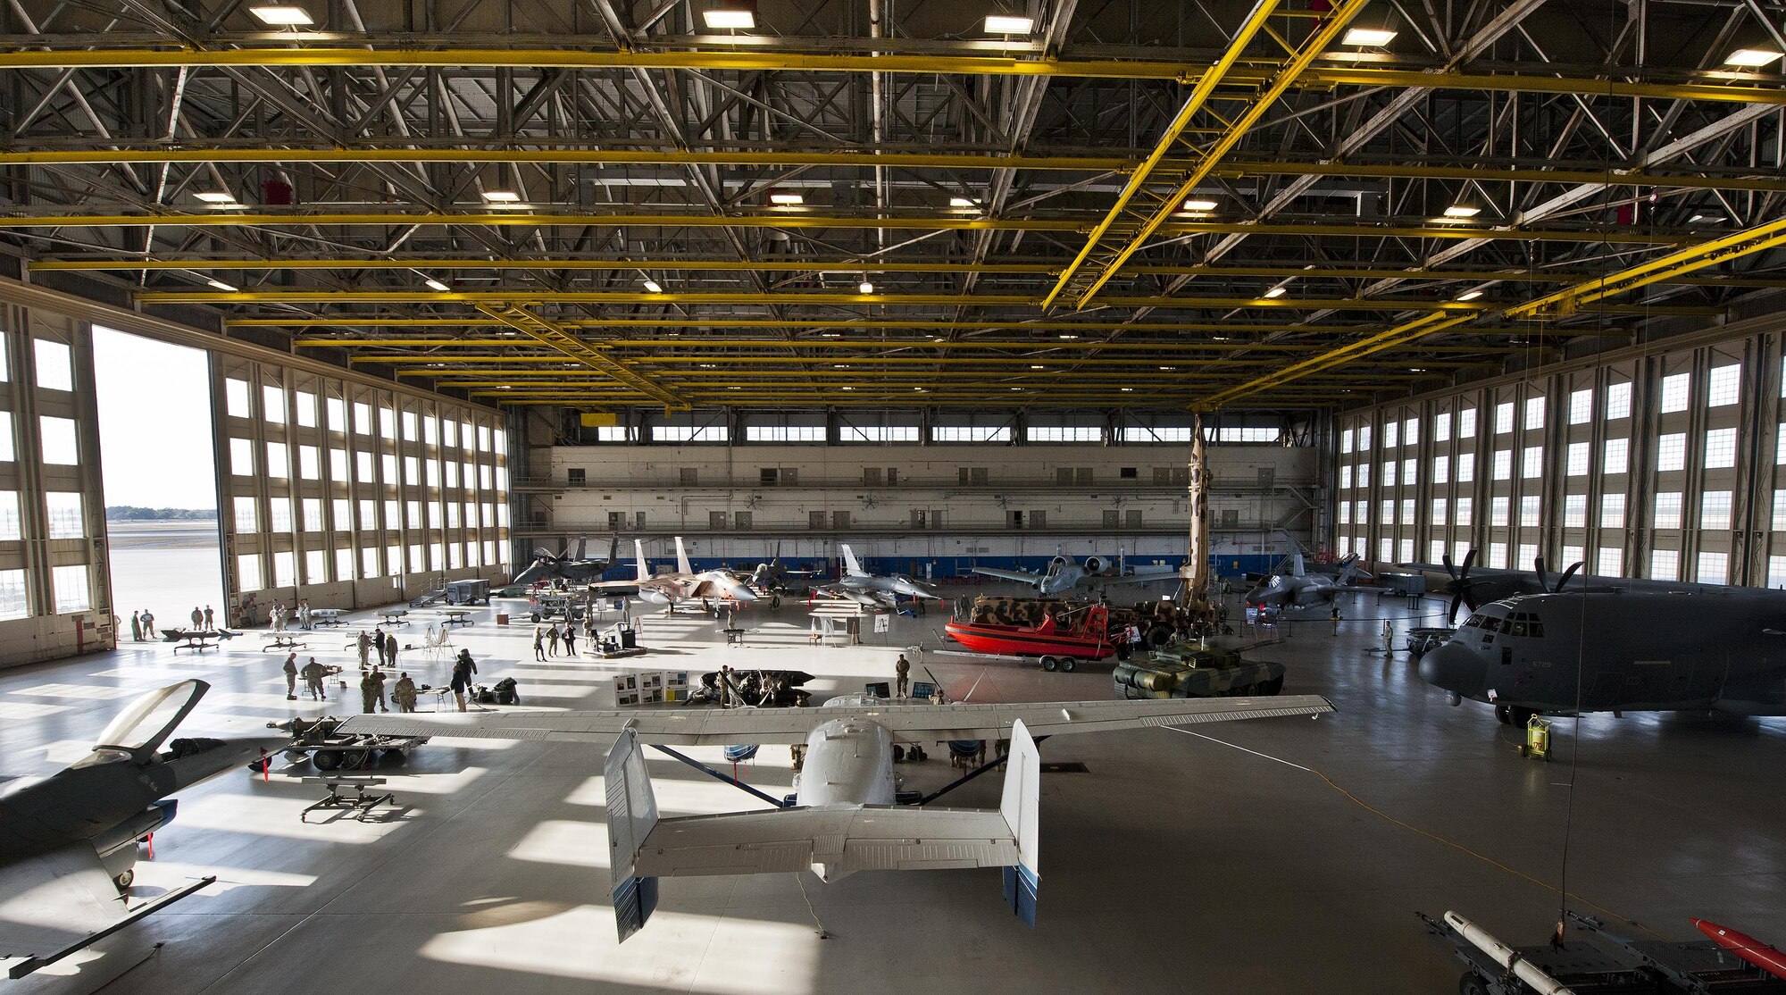
M173 822L168 799L214 773L264 756L261 740L161 743L211 686L180 681L118 713L93 752L45 781L0 791L0 961L9 977L39 968L214 882L129 906L136 847Z

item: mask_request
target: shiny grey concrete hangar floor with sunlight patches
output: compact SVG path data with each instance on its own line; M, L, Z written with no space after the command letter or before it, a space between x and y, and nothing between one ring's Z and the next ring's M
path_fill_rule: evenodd
M605 747L434 740L379 770L400 804L389 822L300 822L321 795L296 781L309 766L275 765L270 781L225 773L184 793L154 859L138 865L138 890L200 874L220 882L102 941L104 957L11 991L93 991L154 943L166 945L107 995L1456 991L1456 961L1413 913L1457 909L1509 943L1541 941L1565 882L1565 829L1577 909L1670 940L1695 936L1690 915L1786 936L1786 722L1591 716L1577 740L1565 720L1556 763L1523 759L1488 709L1448 707L1406 654L1370 652L1382 616L1409 615L1398 600L1354 598L1347 615L1368 622L1338 634L1327 622L1297 625L1257 652L1289 665L1286 691L1327 695L1336 715L1043 745L1045 763L1079 761L1088 773L1043 777L1036 929L1004 907L995 870L836 884L705 877L664 879L657 915L616 947ZM420 643L429 615L413 613L400 640ZM373 622L316 632L304 656L352 666L345 632ZM866 636L872 645L813 648L805 606L788 600L779 611L754 606L747 643L725 647L711 618L654 613L643 631L654 652L613 663L534 663L532 627L497 627L493 611L477 611L454 640L480 661L480 679L514 675L527 704L604 707L614 673L722 661L807 670L820 695L861 690L891 679L898 648L938 648L941 622L897 618L889 634ZM257 636L200 657L138 643L5 672L0 772L50 773L88 748L120 700L182 677L214 684L182 734L357 704L355 690L293 707L284 654L263 652ZM402 670L439 684L448 656L416 650ZM954 690L979 679L975 700L1111 697L1097 670L934 654L923 665ZM716 748L691 752L723 763ZM945 756L904 765L907 786L948 781ZM664 815L759 807L668 757L652 759L650 773ZM780 793L791 773L788 750L764 747L747 777ZM997 807L998 781L970 782L948 804Z

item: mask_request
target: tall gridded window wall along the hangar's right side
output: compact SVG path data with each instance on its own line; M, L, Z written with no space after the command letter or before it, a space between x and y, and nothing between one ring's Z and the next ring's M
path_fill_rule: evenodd
M1786 584L1782 338L1707 332L1343 413L1336 545ZM1477 411L1488 413L1481 432ZM1370 452L1373 434L1382 452ZM1490 468L1481 481L1477 459ZM1431 514L1409 516L1409 498ZM1482 502L1488 513L1472 520Z

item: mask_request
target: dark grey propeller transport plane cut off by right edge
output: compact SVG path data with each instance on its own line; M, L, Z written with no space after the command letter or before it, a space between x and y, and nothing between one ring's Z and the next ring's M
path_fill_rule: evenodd
M1786 591L1566 589L1477 607L1420 657L1420 677L1534 713L1718 711L1786 715Z

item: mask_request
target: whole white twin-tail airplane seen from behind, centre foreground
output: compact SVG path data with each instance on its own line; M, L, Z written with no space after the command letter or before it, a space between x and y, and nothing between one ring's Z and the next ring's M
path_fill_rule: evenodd
M341 731L493 740L613 740L604 772L609 868L614 924L620 940L625 940L645 925L657 906L659 877L807 868L822 881L838 881L857 870L1002 866L1006 902L1025 924L1036 925L1041 866L1038 740L1148 725L1316 716L1327 711L1332 711L1332 704L1320 695L948 706L847 695L823 707L782 709L355 715ZM1011 741L1004 797L997 809L897 804L893 745L939 740ZM782 806L775 811L659 818L641 743L655 745L727 782L732 781L723 773L666 747L805 743L807 752L791 802L775 802L745 788Z

